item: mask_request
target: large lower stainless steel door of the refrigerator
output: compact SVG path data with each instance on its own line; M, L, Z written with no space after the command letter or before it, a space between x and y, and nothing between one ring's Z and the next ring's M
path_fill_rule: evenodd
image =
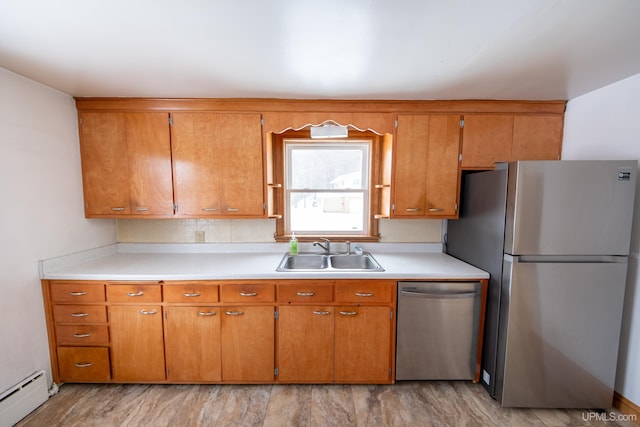
M505 257L497 399L508 407L610 408L627 262Z

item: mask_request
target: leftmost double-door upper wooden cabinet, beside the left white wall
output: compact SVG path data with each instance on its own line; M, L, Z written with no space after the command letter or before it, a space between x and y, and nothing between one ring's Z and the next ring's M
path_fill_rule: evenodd
M167 113L80 112L85 216L173 215Z

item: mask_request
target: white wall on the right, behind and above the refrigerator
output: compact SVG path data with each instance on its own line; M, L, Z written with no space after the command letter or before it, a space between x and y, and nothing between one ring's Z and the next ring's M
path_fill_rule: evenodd
M640 74L572 99L563 159L640 159ZM616 391L640 405L640 182L629 257Z

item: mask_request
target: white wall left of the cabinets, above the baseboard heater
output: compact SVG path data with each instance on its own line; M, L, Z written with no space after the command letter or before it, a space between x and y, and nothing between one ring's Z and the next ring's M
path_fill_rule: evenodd
M38 260L114 243L84 219L72 97L0 68L0 393L45 369Z

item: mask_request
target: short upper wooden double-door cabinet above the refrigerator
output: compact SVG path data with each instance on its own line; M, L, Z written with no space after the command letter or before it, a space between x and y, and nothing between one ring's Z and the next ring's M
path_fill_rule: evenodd
M558 160L563 116L465 114L463 169L493 169L495 162Z

